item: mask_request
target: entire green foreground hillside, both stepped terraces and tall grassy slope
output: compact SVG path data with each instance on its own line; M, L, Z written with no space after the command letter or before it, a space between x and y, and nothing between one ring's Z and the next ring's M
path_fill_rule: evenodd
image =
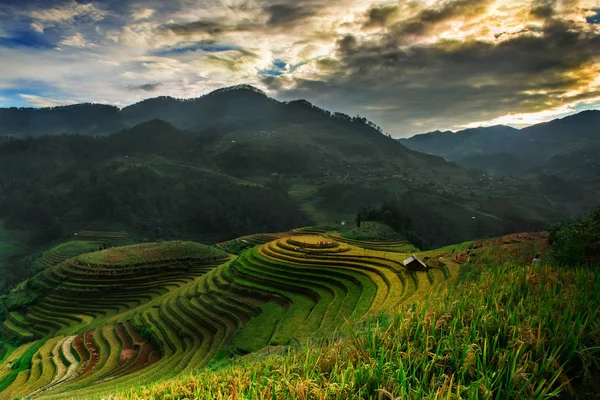
M401 242L314 229L76 256L6 298L0 398L586 398L598 275L514 266L546 236L417 252L417 272Z

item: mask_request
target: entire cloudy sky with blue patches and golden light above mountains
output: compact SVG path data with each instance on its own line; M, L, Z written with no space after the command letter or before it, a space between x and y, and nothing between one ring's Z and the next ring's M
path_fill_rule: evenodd
M252 84L393 136L600 108L597 0L0 0L0 107Z

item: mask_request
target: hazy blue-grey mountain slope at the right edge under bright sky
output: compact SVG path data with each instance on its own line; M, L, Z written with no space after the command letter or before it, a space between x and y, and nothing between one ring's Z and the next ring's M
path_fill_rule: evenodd
M584 111L521 130L494 126L438 131L399 141L465 168L522 177L571 212L581 212L597 204L600 191L599 130L600 111Z

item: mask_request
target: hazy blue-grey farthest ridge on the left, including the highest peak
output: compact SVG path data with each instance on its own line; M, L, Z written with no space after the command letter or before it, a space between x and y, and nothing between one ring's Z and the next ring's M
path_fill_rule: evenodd
M123 109L103 104L0 108L0 136L108 135L153 119L162 119L178 129L201 132L263 126L265 123L293 123L306 117L325 121L332 116L350 118L318 109L304 100L279 102L253 86L239 85L193 99L156 97Z

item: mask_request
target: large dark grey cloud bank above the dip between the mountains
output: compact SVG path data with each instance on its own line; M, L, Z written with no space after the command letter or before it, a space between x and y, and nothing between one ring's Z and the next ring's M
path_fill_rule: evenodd
M600 35L563 20L497 43L400 43L397 32L362 43L346 36L338 42L338 66L319 80L284 82L294 88L281 89L283 95L365 115L400 136L559 107L567 93L594 79L582 71L600 60ZM265 83L276 88L277 79ZM599 95L585 91L571 100Z

